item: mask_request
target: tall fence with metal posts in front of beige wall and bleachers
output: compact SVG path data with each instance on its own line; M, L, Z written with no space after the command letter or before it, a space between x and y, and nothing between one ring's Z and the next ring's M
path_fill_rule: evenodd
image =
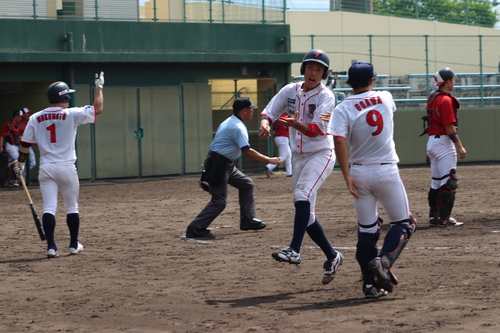
M380 86L394 87L405 103L426 98L434 73L443 67L457 73L456 92L467 105L500 102L497 35L292 35L291 45L292 52L324 50L334 71L345 71L356 61L371 62L383 74ZM298 72L299 64L292 65L292 73ZM337 88L350 88L342 82Z

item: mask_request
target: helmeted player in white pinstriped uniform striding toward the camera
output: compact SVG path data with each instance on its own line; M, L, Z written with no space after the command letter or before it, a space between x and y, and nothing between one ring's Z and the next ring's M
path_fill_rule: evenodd
M330 245L315 216L316 195L321 184L332 173L335 164L333 140L327 136L327 123L320 115L332 111L335 97L321 83L326 79L330 60L322 50L307 52L300 73L304 81L283 87L262 112L259 136L268 138L275 121L289 127L293 153L292 187L295 200L293 237L289 247L272 254L277 261L299 264L300 248L305 233L326 255L323 284L330 283L342 263L342 254ZM288 117L280 118L283 112Z

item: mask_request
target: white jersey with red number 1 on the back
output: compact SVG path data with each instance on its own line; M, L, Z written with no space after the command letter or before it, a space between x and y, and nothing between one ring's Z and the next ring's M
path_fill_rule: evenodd
M91 105L68 109L49 107L30 117L22 141L38 144L40 164L74 163L77 127L94 122L95 110Z

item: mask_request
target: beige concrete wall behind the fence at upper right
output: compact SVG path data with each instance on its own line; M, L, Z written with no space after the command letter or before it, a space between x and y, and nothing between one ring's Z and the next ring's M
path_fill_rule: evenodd
M426 50L430 73L444 66L479 73L480 63L484 73L499 70L497 29L351 12L288 11L287 23L293 52L310 50L309 35L316 35L314 47L326 51L338 71L348 69L352 60L371 60L379 74L426 73ZM427 45L424 35L430 36ZM482 45L478 35L484 36ZM292 74L299 74L298 64Z

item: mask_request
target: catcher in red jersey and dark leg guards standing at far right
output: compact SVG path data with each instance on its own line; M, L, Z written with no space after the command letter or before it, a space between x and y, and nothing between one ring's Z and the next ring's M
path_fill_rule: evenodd
M429 189L429 225L431 227L461 226L450 217L458 187L457 151L460 159L467 151L457 133L460 102L451 95L455 85L455 73L451 68L440 69L435 75L436 91L427 100L427 156L431 164L431 188Z

